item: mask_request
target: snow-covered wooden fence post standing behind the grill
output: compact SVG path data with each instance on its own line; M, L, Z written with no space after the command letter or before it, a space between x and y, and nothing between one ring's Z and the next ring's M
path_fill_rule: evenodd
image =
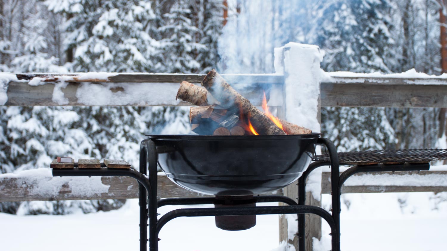
M283 114L291 123L320 132L320 82L323 71L320 62L323 56L316 45L288 43L275 48L275 71L284 74ZM319 150L317 150L319 151ZM306 187L307 205L320 206L321 169L311 173ZM298 198L298 183L283 189L285 196ZM295 250L298 248L298 222L296 215L281 215L279 221L280 241L286 241ZM312 237L321 238L321 219L306 215L306 250L312 250ZM289 250L289 249L287 249ZM293 250L290 248L290 250Z

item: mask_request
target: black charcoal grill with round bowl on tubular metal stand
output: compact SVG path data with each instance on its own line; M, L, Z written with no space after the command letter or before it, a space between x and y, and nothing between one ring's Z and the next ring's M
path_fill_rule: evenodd
M314 156L314 162L309 165L316 144L324 145L329 154ZM74 168L53 169L53 176L128 176L138 180L140 251L147 250L147 243L150 251L157 251L161 228L177 217L215 216L216 226L242 230L254 226L253 216L258 214L298 214L299 250L305 250L304 214L316 214L331 228L332 251L340 251L340 196L347 178L360 172L428 170L428 162L447 159L446 152L427 149L400 150L394 154L392 151L337 154L334 144L317 133L306 136L149 136L141 142L139 172L135 169ZM157 162L178 185L216 197L157 201ZM340 164L355 166L340 175ZM331 214L320 207L304 205L306 178L324 165L331 166ZM285 196L259 195L280 189L297 178L298 203ZM283 202L288 206L255 206L256 202ZM199 204L215 204L215 208L177 209L157 220L157 209L161 206Z

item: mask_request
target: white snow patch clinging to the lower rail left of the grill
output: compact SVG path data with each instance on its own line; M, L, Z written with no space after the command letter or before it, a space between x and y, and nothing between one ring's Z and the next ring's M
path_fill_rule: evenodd
M101 177L58 177L53 178L51 169L38 168L14 173L0 174L0 179L4 178L21 178L18 182L26 182L28 184L36 184L35 189L29 187L30 195L39 194L48 198L58 195L64 184L68 184L71 193L75 196L93 196L101 193L107 193L110 185L103 185ZM22 184L17 184L19 187ZM0 187L1 189L1 187Z

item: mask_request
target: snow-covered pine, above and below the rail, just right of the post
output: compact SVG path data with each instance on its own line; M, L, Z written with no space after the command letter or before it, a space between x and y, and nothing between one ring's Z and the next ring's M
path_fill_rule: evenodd
M386 0L337 0L325 9L317 41L325 50L325 71L388 73L392 24ZM325 107L322 130L339 151L394 148L394 131L384 108Z

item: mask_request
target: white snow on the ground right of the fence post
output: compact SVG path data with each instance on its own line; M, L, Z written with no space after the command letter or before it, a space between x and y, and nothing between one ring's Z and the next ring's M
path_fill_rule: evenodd
M442 193L445 198L446 193ZM343 251L445 250L447 200L435 203L434 193L351 193L342 195ZM330 208L330 196L322 196ZM349 208L348 206L349 205ZM322 223L317 251L330 250L330 228ZM320 246L318 246L320 245Z

